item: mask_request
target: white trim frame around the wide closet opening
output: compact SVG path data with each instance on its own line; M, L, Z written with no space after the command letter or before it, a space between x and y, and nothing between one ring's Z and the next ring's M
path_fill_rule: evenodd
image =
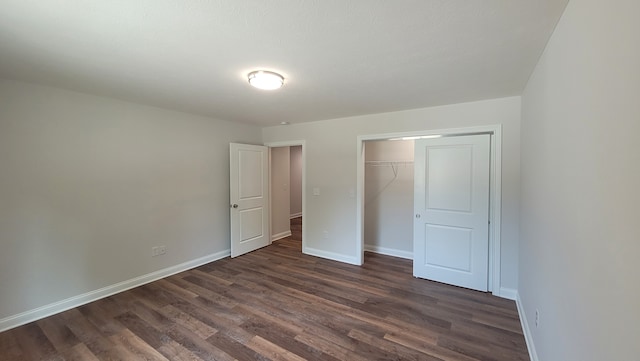
M502 125L485 125L469 128L425 129L402 133L359 135L357 139L357 189L356 189L356 257L358 264L364 263L364 142L426 135L467 135L490 133L491 169L489 188L489 291L500 296L500 225L502 199ZM303 152L304 155L304 152ZM304 179L304 176L303 176ZM303 198L304 202L304 198ZM304 207L304 203L303 203Z

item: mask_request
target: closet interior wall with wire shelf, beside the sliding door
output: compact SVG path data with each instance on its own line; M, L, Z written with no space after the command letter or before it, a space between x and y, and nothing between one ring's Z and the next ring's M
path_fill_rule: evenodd
M365 142L365 251L413 259L413 145Z

